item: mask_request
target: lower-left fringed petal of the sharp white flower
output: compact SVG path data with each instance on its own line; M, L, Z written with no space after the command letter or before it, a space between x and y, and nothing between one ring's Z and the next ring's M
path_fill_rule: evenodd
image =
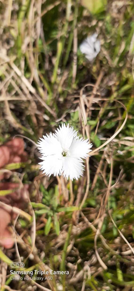
M49 175L49 177L52 174L54 176L62 174L62 155L51 155L47 157L42 156L41 159L43 160L43 162L39 164L42 165L40 170L43 170L43 173L46 173L46 175Z

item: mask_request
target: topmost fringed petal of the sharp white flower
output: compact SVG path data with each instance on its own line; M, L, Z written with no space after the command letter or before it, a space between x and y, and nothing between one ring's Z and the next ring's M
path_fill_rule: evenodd
M75 137L76 135L76 130L74 130L74 127L69 127L69 123L67 127L65 126L65 123L64 125L62 124L62 127L60 127L60 129L57 128L56 133L54 134L64 150L69 150L73 137Z

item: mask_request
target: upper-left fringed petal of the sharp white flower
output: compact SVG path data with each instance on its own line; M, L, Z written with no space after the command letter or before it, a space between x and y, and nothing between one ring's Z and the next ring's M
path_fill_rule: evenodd
M38 149L44 156L62 153L62 147L56 137L50 133L43 136L41 141L38 141Z

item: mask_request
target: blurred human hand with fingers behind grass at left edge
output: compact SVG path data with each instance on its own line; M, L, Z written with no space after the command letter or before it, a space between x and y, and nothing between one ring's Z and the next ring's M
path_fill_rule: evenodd
M0 168L6 164L25 162L27 160L27 154L24 151L24 141L20 138L12 139L4 145L0 146ZM0 180L6 178L6 174L0 174ZM16 190L16 188L18 188ZM19 189L19 184L11 182L0 182L0 190L15 189L12 194L6 196L0 196L0 201L8 205L23 208L24 202L28 195L28 185L24 185L22 189ZM11 219L15 219L15 213L9 213L2 207L0 207L0 244L6 249L9 249L14 244L14 238L8 230L8 225Z

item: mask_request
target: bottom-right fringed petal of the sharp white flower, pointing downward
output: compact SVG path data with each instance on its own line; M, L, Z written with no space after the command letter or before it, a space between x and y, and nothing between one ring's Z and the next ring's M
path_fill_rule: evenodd
M66 156L63 159L63 176L70 177L71 180L80 178L83 176L84 165L82 162L76 158Z

